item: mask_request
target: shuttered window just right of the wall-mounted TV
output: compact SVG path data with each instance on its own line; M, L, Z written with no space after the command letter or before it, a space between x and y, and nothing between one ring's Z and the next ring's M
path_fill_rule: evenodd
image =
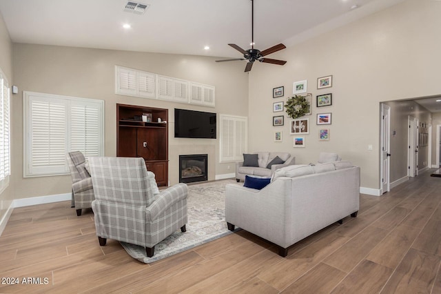
M247 117L220 115L220 162L243 160L247 152Z

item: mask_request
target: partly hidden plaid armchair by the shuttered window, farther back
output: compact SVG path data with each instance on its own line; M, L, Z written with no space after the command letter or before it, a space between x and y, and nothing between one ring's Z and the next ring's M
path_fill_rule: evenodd
M70 175L72 176L72 207L76 215L81 215L83 208L91 208L94 200L92 177L85 166L85 157L79 151L68 154Z

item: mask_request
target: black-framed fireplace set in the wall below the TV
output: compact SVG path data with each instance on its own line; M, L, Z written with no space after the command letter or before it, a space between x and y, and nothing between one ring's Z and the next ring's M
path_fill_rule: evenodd
M207 181L208 155L179 155L179 182Z

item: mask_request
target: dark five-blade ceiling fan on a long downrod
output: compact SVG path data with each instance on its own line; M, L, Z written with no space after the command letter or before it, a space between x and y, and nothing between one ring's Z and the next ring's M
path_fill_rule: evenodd
M251 13L252 13L251 49L243 50L242 48L240 48L236 44L228 44L229 46L232 46L234 49L236 49L240 53L242 53L243 58L216 60L216 62L234 61L234 60L248 60L247 66L245 66L245 72L249 72L252 69L254 61L278 64L279 66L283 66L285 63L287 63L287 61L278 60L278 59L263 58L264 56L270 55L271 53L277 52L278 50L285 49L286 46L283 45L283 43L280 43L276 46L272 46L271 48L268 48L263 51L260 51L258 49L254 49L254 1L253 0L251 0Z

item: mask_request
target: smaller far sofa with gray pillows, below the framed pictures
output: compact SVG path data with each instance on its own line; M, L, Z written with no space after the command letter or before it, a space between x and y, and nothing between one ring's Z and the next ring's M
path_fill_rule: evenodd
M257 175L260 177L271 177L278 168L296 164L296 157L285 152L256 152L258 156L258 166L244 166L244 161L236 162L236 181L245 181L245 175ZM273 164L267 168L268 164L279 157L284 161L283 164Z

